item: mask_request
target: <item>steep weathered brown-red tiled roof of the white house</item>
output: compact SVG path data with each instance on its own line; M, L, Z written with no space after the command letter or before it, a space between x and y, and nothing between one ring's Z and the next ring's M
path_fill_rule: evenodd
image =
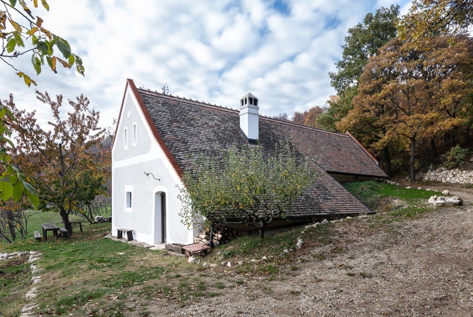
M134 86L133 82L131 81ZM133 87L134 88L134 87ZM136 89L136 88L134 88ZM248 144L239 129L238 110L136 89L143 100L147 120L152 120L157 140L162 140L179 169L198 169L199 154L216 157L222 150ZM138 97L139 98L139 97ZM139 100L141 103L141 100ZM259 144L272 151L280 140L292 140L304 155L310 155L328 172L385 177L376 162L350 136L313 129L260 116ZM166 149L166 150L167 150ZM177 169L176 169L177 170ZM371 212L327 173L297 202L296 216L322 216Z

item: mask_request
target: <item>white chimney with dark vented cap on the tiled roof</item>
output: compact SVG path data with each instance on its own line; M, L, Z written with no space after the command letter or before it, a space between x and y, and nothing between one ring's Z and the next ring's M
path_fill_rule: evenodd
M248 141L258 140L258 117L258 99L248 92L240 99L240 129Z

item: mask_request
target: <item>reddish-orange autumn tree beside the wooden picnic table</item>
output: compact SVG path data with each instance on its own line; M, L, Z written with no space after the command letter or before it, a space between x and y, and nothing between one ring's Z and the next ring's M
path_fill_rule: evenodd
M36 91L37 98L49 105L53 120L43 129L37 123L35 111L19 110L13 102L11 111L16 121L10 122L17 133L15 161L35 180L41 210L57 210L64 227L72 233L69 215L87 212L80 209L97 194L104 192L110 177L110 152L103 151L105 129L98 127L99 112L89 107L87 97L69 100L72 110L63 119L63 96L56 100L48 93ZM88 219L91 221L91 219Z

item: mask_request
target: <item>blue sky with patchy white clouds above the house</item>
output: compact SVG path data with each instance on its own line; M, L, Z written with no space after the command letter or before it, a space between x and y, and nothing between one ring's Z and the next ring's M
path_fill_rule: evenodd
M30 1L27 1L30 2ZM49 109L35 88L74 99L83 93L100 111L101 126L118 117L127 78L138 87L237 108L247 92L260 113L290 116L323 106L334 94L328 72L341 59L349 27L389 0L48 0L33 14L66 38L83 60L85 77L45 66L36 76L30 56L12 60L38 86L28 88L0 62L0 98L18 107ZM409 0L397 0L407 13ZM32 6L32 3L31 3Z

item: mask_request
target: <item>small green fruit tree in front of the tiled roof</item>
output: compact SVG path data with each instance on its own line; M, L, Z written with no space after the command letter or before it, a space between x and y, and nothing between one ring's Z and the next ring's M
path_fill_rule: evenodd
M201 157L202 168L184 173L185 187L178 196L183 223L238 220L257 228L264 238L266 226L290 216L297 198L316 178L314 166L297 158L289 145L276 153L265 157L260 146L247 146L229 150L223 159Z

